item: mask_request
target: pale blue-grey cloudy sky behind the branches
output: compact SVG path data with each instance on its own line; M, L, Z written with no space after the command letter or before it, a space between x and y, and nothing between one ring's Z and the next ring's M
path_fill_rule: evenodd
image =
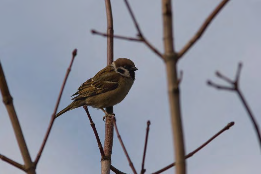
M220 1L173 1L177 50ZM130 5L146 38L163 51L161 1L132 0ZM124 2L112 1L112 9L114 33L135 36L137 32ZM233 78L238 62L243 62L240 87L261 123L260 9L261 0L231 0L178 63L179 70L184 72L180 87L186 153L235 121L235 126L187 160L188 173L260 173L259 144L238 96L206 85L208 79L225 84L215 77L215 71ZM83 82L106 66L106 38L90 32L91 29L106 32L105 4L95 0L1 0L0 21L0 60L27 146L35 159L73 49L78 49L78 55L58 110L71 102L70 96ZM118 57L130 58L139 69L131 91L114 107L118 129L139 172L146 124L151 121L145 168L147 173L155 172L175 160L164 63L144 44L115 39L114 59ZM103 142L103 112L92 108L89 111ZM3 103L0 139L0 154L23 164ZM132 173L117 136L112 164ZM55 120L36 171L100 173L100 152L82 108ZM174 168L165 173L173 171ZM24 172L0 161L0 173Z

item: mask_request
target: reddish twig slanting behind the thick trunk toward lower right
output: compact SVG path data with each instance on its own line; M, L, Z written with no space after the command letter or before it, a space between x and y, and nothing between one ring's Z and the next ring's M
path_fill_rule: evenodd
M220 130L218 133L216 133L214 136L212 136L208 141L206 141L205 143L203 143L201 146L199 146L197 149L193 150L191 153L189 153L188 155L185 156L185 158L190 158L191 156L193 156L195 153L197 153L199 150L201 150L203 147L205 147L206 145L208 145L208 143L210 143L212 140L214 140L216 137L218 137L220 134L222 134L223 132L225 132L226 130L229 130L230 127L234 126L235 122L230 122L228 123L222 130ZM171 167L175 166L176 163L172 163L166 167L164 167L163 169L158 170L157 172L154 172L152 174L158 174L161 172L164 172L167 169L170 169Z

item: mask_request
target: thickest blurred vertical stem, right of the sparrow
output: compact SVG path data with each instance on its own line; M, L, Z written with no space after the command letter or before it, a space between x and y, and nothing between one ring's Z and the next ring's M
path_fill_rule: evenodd
M185 174L185 146L183 140L183 130L180 111L180 95L177 77L178 56L175 53L173 43L171 0L162 0L162 14L164 60L166 63L168 80L168 96L171 113L171 126L173 131L172 134L174 140L174 152L176 159L176 174Z

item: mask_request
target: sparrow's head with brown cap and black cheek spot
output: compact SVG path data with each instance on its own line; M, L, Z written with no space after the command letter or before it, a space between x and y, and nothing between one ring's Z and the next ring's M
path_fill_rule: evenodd
M112 67L114 70L124 77L131 77L135 80L135 72L138 68L135 67L133 61L127 58L118 58L114 62L112 62Z

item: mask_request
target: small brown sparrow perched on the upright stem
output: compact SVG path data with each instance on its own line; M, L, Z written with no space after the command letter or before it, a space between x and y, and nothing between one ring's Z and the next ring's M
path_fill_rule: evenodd
M103 120L107 116L114 115L107 113L103 108L114 106L126 97L134 83L134 71L136 70L138 68L130 59L118 58L84 82L72 95L77 95L72 99L74 101L57 113L55 117L84 105L101 109L105 113Z

